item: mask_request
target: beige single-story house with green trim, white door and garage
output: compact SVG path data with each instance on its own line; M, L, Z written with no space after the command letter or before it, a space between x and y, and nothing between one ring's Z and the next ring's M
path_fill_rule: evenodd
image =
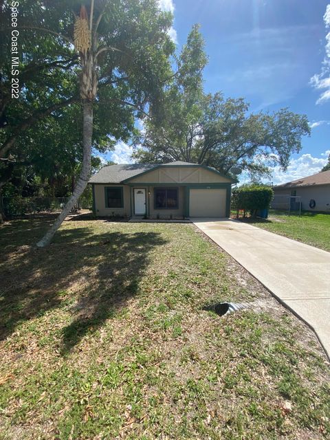
M233 182L188 162L104 166L89 180L97 216L151 218L229 217Z

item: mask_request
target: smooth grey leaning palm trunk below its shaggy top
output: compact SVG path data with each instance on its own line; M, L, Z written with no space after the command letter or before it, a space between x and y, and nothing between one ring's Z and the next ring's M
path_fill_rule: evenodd
M83 101L83 168L81 169L79 179L74 188L72 196L69 198L63 211L57 217L55 223L43 238L36 243L38 248L45 248L52 241L55 232L63 223L65 217L72 210L80 195L83 194L91 173L91 138L93 135L93 102L91 100Z

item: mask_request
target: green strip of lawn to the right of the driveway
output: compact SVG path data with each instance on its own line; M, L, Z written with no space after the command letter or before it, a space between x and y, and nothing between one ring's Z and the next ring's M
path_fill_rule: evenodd
M288 216L285 212L271 210L267 220L247 218L245 221L289 239L330 251L330 214L304 211L299 217L298 214Z

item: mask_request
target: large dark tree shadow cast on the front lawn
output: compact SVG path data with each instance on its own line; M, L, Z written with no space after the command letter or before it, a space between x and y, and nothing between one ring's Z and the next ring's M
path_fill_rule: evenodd
M0 339L21 322L62 307L73 289L78 303L63 329L66 353L136 294L149 252L166 242L155 232L132 233L128 223L99 234L82 224L59 230L48 248L34 248L51 220L14 221L0 230Z

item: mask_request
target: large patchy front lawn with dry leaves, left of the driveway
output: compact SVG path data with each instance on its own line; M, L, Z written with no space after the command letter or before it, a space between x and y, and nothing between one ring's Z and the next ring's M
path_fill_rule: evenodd
M329 439L313 333L190 224L0 229L0 439ZM217 316L219 301L255 309Z

